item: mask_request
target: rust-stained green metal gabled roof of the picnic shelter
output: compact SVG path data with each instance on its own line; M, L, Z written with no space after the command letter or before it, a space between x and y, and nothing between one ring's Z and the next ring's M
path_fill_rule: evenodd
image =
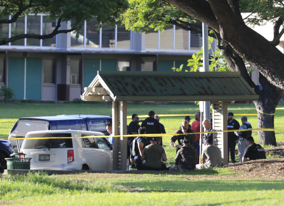
M240 72L98 72L89 85L104 87L107 95L84 92L87 96L108 96L112 101L235 101L257 100L258 95ZM87 91L87 89L85 89ZM104 100L104 99L101 99Z

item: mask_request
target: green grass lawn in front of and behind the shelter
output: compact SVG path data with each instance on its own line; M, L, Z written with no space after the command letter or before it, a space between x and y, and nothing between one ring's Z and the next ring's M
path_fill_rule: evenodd
M278 107L284 107L284 104ZM128 115L145 115L149 110L156 114L194 114L199 106L194 103L128 103ZM253 104L229 104L228 111L234 114L256 113ZM7 138L20 117L78 113L111 115L111 105L104 102L0 103L0 121L12 121L0 122L0 138ZM275 127L282 128L283 116L283 110L276 110ZM183 118L161 117L160 121L167 128L167 133L173 133ZM235 115L235 119L241 122L241 116ZM248 115L248 120L253 128L257 128L256 116ZM276 140L284 141L283 134L277 132ZM257 133L254 132L253 136L257 137ZM167 163L173 164L175 148L169 145L169 140L170 137L163 137L169 159ZM248 179L246 174L242 179L223 178L234 174L227 168L218 168L187 173L101 173L72 177L41 173L0 175L0 205L283 205L284 180Z

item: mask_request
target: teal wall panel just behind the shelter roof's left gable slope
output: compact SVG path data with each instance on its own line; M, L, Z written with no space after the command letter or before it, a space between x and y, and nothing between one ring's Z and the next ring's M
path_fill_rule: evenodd
M84 59L84 87L88 87L100 70L99 59Z

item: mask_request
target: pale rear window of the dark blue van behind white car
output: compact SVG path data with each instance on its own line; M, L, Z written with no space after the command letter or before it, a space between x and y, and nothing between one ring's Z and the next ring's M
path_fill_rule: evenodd
M47 125L47 122L19 120L12 132L25 135L30 131L47 130Z

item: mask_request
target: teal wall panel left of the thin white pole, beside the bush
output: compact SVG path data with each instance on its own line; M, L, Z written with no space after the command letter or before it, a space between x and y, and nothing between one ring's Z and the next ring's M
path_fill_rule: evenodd
M10 57L8 65L8 87L14 90L16 99L24 98L25 59Z

